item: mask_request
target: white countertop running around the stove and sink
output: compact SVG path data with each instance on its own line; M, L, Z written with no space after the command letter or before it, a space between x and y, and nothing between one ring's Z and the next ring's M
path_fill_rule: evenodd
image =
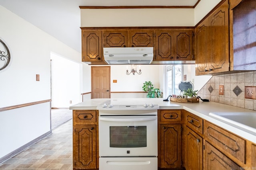
M70 106L72 110L92 110L100 104L108 104L111 100L112 105L132 105L132 104L158 104L160 109L185 109L195 115L214 123L244 139L252 141L256 143L256 134L245 131L244 129L240 129L235 125L230 125L228 123L224 123L214 117L209 115L210 112L255 112L250 109L244 109L241 107L229 106L225 104L220 104L216 102L202 102L199 103L177 103L177 102L165 102L163 98L111 98L111 99L90 99L86 100L82 103L76 104L74 106ZM256 122L255 122L256 123Z

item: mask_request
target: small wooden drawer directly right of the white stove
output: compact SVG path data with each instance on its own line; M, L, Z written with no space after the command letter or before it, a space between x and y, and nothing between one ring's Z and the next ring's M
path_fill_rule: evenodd
M181 121L181 110L161 110L160 121Z

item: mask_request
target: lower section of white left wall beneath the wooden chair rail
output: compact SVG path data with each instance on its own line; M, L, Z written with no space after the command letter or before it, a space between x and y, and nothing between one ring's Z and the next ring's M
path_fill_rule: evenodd
M50 131L50 103L0 112L0 158Z

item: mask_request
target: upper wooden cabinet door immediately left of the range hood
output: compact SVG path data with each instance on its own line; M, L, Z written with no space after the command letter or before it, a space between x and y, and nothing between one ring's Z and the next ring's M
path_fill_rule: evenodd
M82 61L102 61L102 31L82 29Z

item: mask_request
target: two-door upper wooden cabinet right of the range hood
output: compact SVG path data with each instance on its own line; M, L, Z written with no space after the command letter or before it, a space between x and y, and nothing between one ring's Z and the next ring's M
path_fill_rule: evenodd
M193 60L193 33L191 30L156 30L156 61Z

